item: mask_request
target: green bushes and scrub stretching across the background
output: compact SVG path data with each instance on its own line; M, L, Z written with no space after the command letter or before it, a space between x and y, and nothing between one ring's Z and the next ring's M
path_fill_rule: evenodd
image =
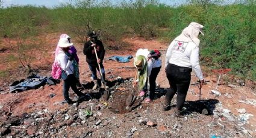
M232 73L256 80L256 5L243 1L217 5L212 1L189 1L179 7L158 1L135 0L119 6L103 1L77 1L76 5L0 8L0 35L26 40L48 32L66 32L86 41L86 32L98 31L106 47L119 44L123 35L137 35L170 42L190 22L205 26L201 58L211 68L232 68ZM23 45L22 49L30 47ZM25 52L23 52L25 53Z

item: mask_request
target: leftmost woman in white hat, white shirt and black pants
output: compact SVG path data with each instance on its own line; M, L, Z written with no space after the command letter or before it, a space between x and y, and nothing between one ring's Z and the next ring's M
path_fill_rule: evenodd
M78 82L78 80L74 76L74 67L72 65L74 58L68 52L70 46L73 46L73 43L70 43L67 38L60 38L60 40L58 41L58 47L60 47L60 50L58 51L57 62L63 70L63 73L61 73L61 78L64 80L63 96L64 100L68 104L73 103L73 101L69 98L70 87L75 92L75 94L78 95L78 102L85 98L85 95L82 92L78 91L78 89L76 88L76 83Z

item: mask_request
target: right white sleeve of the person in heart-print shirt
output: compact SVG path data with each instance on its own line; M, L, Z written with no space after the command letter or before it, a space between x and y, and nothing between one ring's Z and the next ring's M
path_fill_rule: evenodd
M192 50L190 55L190 64L192 65L193 70L195 71L196 76L199 80L203 80L202 70L199 65L199 47L196 47Z

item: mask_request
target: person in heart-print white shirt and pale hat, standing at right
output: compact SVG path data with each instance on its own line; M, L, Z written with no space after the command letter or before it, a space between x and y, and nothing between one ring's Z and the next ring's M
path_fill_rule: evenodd
M181 35L176 37L166 52L165 70L169 80L170 88L166 93L166 101L163 110L170 109L170 101L177 92L175 115L183 113L183 106L189 89L192 68L200 80L204 83L201 67L199 65L199 43L198 35L202 34L204 26L192 22L183 30Z

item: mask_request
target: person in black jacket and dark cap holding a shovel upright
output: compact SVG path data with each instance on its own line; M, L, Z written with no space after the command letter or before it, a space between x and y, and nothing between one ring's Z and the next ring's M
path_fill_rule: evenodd
M92 89L95 90L98 87L97 70L101 70L101 77L103 77L102 79L104 79L103 81L101 81L101 87L106 88L105 84L103 83L105 81L105 70L102 63L105 56L104 46L102 44L102 41L98 40L98 35L94 31L89 31L87 33L87 36L89 37L89 41L84 43L83 52L84 55L86 55L86 62L89 65L90 71L92 71L92 78L94 83ZM98 56L98 59L96 56Z

